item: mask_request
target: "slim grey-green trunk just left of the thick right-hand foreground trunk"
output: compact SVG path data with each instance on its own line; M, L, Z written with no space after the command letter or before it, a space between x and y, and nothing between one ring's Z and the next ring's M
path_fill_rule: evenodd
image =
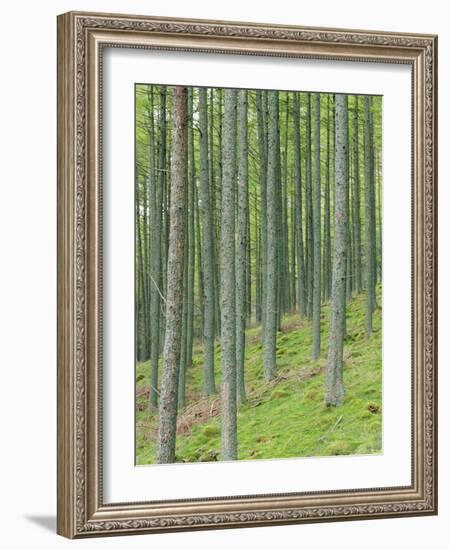
M320 94L313 94L313 339L312 359L321 346L321 109Z

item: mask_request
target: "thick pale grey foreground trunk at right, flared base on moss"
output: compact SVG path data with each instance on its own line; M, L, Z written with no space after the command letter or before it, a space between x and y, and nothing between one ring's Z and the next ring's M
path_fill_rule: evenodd
M343 402L343 346L346 317L345 274L347 253L348 196L348 98L335 95L335 219L332 275L332 306L329 355L326 372L325 402L338 406Z

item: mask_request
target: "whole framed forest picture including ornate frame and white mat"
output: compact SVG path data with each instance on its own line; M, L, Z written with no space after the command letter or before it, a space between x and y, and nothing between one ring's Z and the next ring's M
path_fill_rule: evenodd
M58 533L437 513L437 38L58 17Z

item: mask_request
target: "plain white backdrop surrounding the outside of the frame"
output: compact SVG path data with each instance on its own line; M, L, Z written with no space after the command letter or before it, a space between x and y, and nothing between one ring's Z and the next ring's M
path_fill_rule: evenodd
M440 280L449 278L445 215L449 148L449 30L444 3L428 0L363 6L344 0L294 3L291 0L243 3L227 0L163 4L136 0L23 2L2 6L2 86L0 89L0 270L2 383L0 394L0 492L2 546L5 548L116 547L158 550L272 548L273 546L364 550L390 547L399 539L411 550L443 549L449 535L449 304L447 284L440 297L440 515L257 528L151 538L69 542L54 535L56 471L56 22L70 9L148 15L254 20L315 26L432 32L440 35Z

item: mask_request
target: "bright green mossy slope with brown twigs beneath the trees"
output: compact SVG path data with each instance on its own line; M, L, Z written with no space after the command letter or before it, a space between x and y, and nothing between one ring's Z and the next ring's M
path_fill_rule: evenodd
M381 303L381 288L378 287ZM321 357L312 361L311 321L287 315L277 336L277 375L263 379L260 326L246 332L247 403L238 409L238 458L269 459L375 454L382 450L382 330L380 309L373 334L364 334L365 295L348 302L344 350L345 399L324 405L329 305L322 307ZM177 462L220 458L220 346L215 348L217 394L201 397L202 346L194 344L187 371L187 406L178 413ZM149 363L137 365L136 463L156 455L157 415L148 412Z

